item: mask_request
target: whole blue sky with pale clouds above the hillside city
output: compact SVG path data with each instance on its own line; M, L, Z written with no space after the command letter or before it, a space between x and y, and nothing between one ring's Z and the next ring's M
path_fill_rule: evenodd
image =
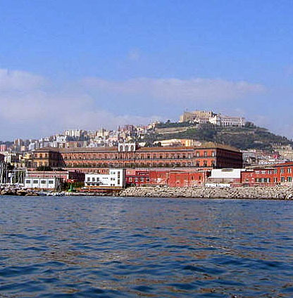
M0 0L0 139L242 115L293 138L292 1Z

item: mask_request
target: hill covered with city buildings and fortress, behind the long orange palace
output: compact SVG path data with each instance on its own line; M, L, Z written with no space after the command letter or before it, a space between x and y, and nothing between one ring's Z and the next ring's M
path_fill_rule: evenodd
M39 139L16 138L13 142L2 141L0 155L2 160L11 167L22 169L31 166L33 153L42 148L106 148L118 146L119 143L136 143L141 148L190 147L213 142L232 145L241 150L245 166L278 164L293 160L292 142L270 133L274 137L266 140L269 144L263 141L264 138L256 139L250 141L252 146L247 148L244 143L247 136L242 138L241 134L247 134L247 130L251 133L254 127L251 122L245 122L244 117L194 110L183 112L177 122L168 120L165 123L155 121L149 125L129 124L118 127L117 130L68 129L62 134L44 136ZM215 131L219 135L218 139L209 136ZM261 136L261 131L258 134ZM253 135L256 135L255 130ZM240 136L241 143L235 143L237 136Z

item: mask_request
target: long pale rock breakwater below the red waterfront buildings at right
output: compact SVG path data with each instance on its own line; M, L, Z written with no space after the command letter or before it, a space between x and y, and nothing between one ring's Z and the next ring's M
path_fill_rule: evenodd
M121 197L194 197L213 199L293 200L293 186L238 188L170 188L168 186L129 187Z

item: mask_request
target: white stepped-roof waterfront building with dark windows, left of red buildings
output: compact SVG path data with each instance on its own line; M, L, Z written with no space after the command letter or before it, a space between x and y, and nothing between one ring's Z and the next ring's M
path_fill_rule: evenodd
M106 174L85 174L85 186L125 186L125 169L109 169Z

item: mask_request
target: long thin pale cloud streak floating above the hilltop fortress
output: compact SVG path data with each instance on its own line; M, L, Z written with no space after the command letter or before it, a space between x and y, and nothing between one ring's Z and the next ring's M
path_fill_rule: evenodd
M126 95L144 95L162 101L226 101L235 100L251 93L262 93L265 87L249 82L232 82L223 79L150 79L137 78L125 81L109 81L86 78L82 85L88 89Z

